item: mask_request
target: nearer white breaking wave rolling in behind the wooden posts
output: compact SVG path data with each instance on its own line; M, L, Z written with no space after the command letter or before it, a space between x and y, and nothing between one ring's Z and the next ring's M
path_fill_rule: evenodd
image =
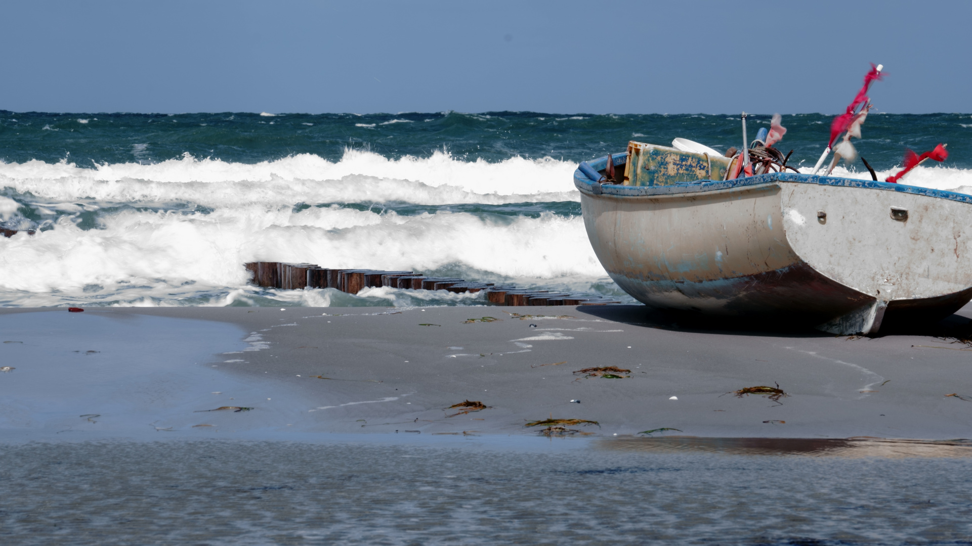
M68 218L36 235L0 238L0 305L82 302L201 304L248 287L247 261L434 271L481 280L587 283L606 274L579 217L483 219L467 213L402 217L351 209L208 214L124 210L83 229ZM472 276L469 276L473 280Z

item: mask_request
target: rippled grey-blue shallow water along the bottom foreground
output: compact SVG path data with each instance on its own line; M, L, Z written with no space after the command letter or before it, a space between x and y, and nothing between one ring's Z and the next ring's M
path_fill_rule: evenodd
M0 532L17 545L972 541L968 458L531 440L8 444Z

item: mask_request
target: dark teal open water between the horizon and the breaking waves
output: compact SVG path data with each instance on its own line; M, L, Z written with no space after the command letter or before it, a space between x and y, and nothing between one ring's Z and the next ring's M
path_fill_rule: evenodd
M770 115L750 115L750 138ZM788 129L779 148L813 162L829 138L832 116L783 117ZM87 119L86 123L79 119ZM906 148L923 152L949 144L949 165L972 165L972 116L872 114L857 150L877 169L900 162ZM82 166L156 162L183 154L254 163L293 154L331 161L348 148L385 157L428 157L448 151L457 159L502 161L513 156L581 161L623 151L629 140L667 144L676 137L720 150L740 147L738 114L559 115L534 112L460 114L45 114L0 111L0 158L40 159ZM855 141L856 142L856 141Z

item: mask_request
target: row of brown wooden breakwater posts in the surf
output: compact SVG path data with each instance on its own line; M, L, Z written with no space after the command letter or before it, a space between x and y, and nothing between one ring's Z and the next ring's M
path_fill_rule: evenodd
M549 290L520 290L495 283L474 283L453 277L426 277L413 271L377 269L328 269L313 263L251 261L245 264L253 284L272 289L336 289L358 293L368 287L391 287L403 290L448 290L478 292L497 305L607 305L620 301Z

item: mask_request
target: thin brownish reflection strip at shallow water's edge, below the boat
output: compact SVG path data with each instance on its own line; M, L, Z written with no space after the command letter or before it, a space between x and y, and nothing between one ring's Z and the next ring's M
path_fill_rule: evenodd
M851 438L664 438L624 437L600 440L612 451L652 453L712 453L719 455L805 456L885 459L928 457L972 458L972 440L905 440L856 436Z

